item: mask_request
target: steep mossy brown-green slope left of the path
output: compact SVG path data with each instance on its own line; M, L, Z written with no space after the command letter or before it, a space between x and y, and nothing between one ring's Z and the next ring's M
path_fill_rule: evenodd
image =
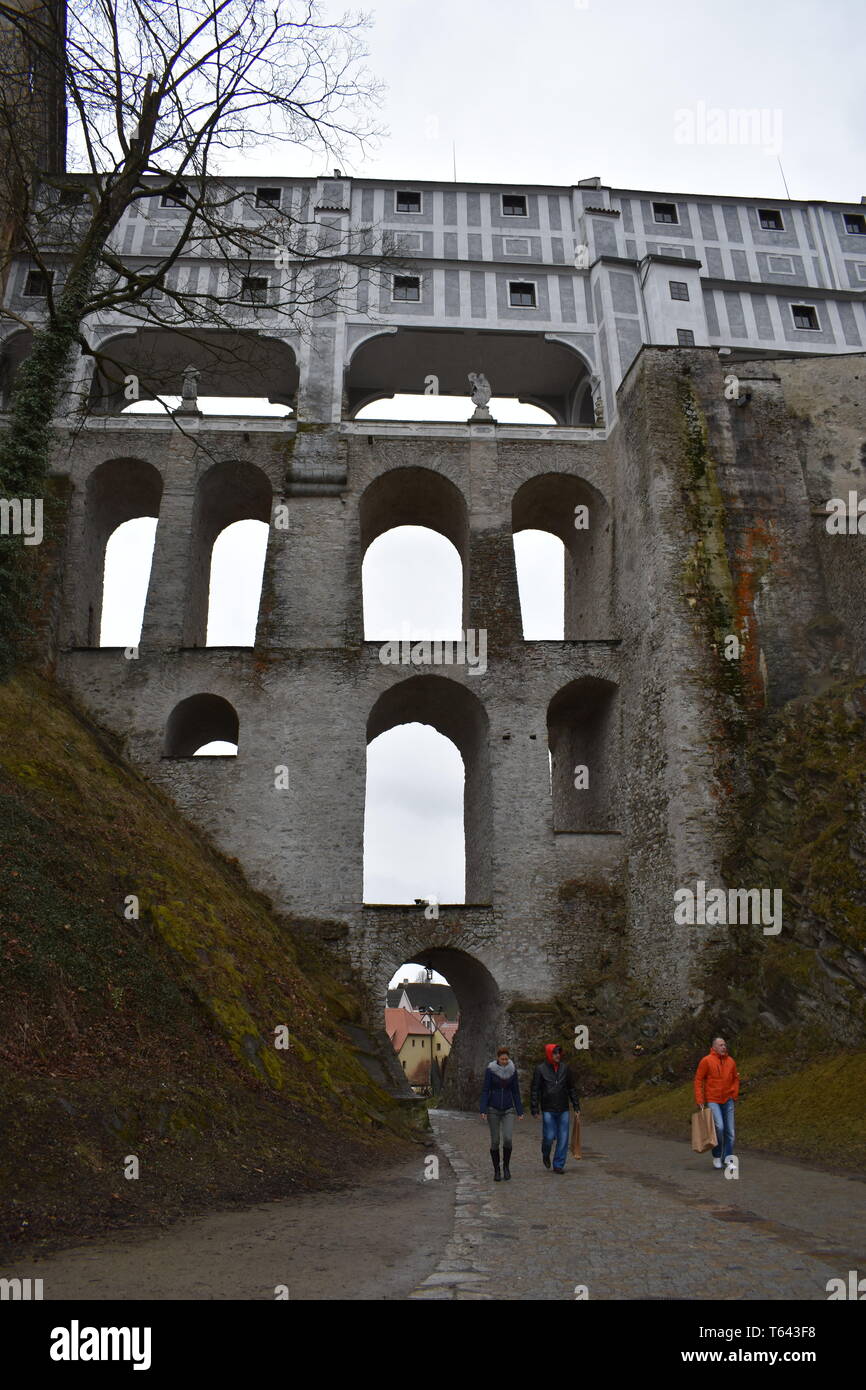
M402 1108L339 1030L356 1009L54 685L0 685L7 1250L288 1194L406 1152ZM132 1154L139 1180L124 1177Z

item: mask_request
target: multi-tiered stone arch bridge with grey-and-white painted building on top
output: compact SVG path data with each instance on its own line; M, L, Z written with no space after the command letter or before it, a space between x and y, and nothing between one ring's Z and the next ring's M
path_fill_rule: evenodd
M271 182L329 232L405 238L403 284L364 279L304 334L264 293L234 379L209 382L206 335L200 352L185 336L202 396L268 395L295 406L285 420L186 410L178 428L122 413L82 359L70 411L86 399L86 420L74 434L58 421L71 492L57 671L277 908L320 923L370 1026L402 962L446 974L461 1008L450 1095L474 1105L495 1042L528 1061L563 1008L585 1022L599 962L620 962L660 1024L699 1002L719 929L674 924L673 902L724 881L720 713L863 671L865 541L831 535L826 516L866 491L866 221L848 204L598 179ZM150 202L121 228L132 260L181 215ZM204 256L179 267L196 270L217 274ZM25 282L22 263L13 307ZM177 345L146 310L97 336L179 391ZM14 366L17 331L4 350ZM550 424L354 418L431 379L468 395L470 371ZM99 645L103 563L140 516L158 527L131 659ZM213 543L242 518L270 523L256 642L209 648ZM364 553L406 524L456 546L484 673L384 664L364 641ZM563 641L523 637L524 528L563 541ZM450 738L466 767L466 903L438 916L361 898L366 748L407 721ZM193 756L215 738L238 756Z

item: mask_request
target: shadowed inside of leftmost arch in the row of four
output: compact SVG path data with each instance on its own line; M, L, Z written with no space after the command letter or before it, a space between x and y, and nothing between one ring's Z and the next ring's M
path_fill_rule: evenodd
M157 517L163 475L145 459L106 459L85 484L83 538L76 588L76 628L85 646L99 646L106 545L124 521Z

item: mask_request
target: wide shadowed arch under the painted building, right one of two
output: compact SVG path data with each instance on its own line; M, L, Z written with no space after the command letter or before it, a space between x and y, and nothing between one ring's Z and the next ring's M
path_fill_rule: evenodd
M371 400L423 393L431 375L439 395L468 396L470 371L487 375L493 396L541 406L557 424L592 424L574 416L591 375L587 359L542 332L505 328L379 329L357 345L346 366L345 409L354 417Z

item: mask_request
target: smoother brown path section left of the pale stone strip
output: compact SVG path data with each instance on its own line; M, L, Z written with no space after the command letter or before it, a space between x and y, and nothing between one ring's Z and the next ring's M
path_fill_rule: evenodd
M428 1145L427 1152L432 1151ZM405 1300L434 1268L453 1223L455 1180L425 1151L360 1187L213 1212L168 1230L114 1236L22 1261L0 1275L43 1280L57 1298Z

